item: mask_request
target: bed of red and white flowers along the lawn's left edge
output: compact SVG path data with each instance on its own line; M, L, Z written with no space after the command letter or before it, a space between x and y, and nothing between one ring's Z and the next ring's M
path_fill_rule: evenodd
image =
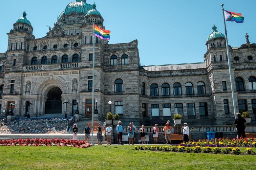
M86 141L70 139L12 139L0 140L0 146L69 146L87 148L92 146Z

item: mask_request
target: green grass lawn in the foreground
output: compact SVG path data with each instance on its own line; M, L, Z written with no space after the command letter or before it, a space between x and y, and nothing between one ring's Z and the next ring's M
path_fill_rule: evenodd
M254 152L256 149L253 148ZM244 152L245 148L241 148ZM1 146L1 170L256 169L256 155L136 151L128 145L89 148Z

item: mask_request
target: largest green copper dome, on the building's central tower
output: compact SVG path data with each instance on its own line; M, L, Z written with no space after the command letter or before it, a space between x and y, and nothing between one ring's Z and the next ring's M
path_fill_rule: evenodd
M86 0L76 0L75 2L71 2L67 5L66 9L64 9L60 15L58 16L58 20L63 16L67 15L70 12L84 13L87 14L89 10L93 9L91 4L87 4Z

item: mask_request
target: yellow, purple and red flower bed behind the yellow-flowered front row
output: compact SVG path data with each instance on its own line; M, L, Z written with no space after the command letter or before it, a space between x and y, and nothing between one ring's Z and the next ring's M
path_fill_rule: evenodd
M181 143L181 144L175 144L175 146L187 146L187 147L194 147L194 146L209 146L209 147L256 147L256 139L253 138L222 138L214 140L199 140L198 142L188 142L188 143Z

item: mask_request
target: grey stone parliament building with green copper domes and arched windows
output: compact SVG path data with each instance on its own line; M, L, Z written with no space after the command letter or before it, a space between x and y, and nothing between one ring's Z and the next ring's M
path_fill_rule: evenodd
M0 53L1 117L40 117L79 110L91 118L93 23L104 28L103 17L85 0L61 12L45 37L35 38L26 12L8 33L8 49ZM183 115L190 125L230 125L234 114L225 37L213 26L203 56L205 62L142 66L138 41L109 44L95 39L96 120L106 113L120 120L149 125L156 119ZM202 44L203 45L203 44ZM236 106L247 110L255 124L256 44L230 48ZM143 57L143 56L142 56ZM112 101L109 106L108 102ZM63 104L63 102L69 102ZM32 103L32 105L30 105ZM5 112L4 112L5 110Z

